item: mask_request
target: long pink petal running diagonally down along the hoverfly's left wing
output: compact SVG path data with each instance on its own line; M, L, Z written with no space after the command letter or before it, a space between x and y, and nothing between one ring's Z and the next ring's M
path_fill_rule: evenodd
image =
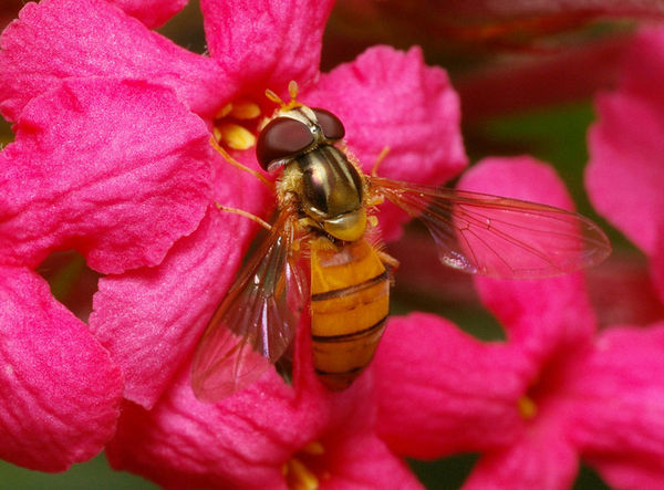
M218 156L215 168L217 202L260 212L273 201L261 183ZM255 228L210 207L158 267L100 280L90 325L122 367L126 398L154 405L228 290Z

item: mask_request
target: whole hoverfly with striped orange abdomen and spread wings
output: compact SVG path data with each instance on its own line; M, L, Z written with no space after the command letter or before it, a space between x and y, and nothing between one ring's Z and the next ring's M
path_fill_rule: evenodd
M288 104L272 94L281 107L257 143L262 168L281 171L277 216L199 342L199 399L242 389L284 356L308 299L319 379L343 389L362 373L385 327L397 264L375 244L374 210L385 199L424 222L443 263L474 274L549 277L610 253L601 229L574 212L365 175L341 144L342 122L289 88Z

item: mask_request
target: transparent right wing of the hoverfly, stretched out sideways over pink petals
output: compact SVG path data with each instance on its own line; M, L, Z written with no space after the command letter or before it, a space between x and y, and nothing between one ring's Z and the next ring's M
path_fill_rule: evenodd
M535 279L596 264L611 252L603 231L575 212L479 192L370 179L430 231L440 261L473 274Z

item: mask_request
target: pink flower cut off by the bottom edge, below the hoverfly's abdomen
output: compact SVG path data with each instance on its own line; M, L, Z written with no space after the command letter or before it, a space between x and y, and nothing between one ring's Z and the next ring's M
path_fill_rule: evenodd
M127 403L111 465L166 488L422 488L374 428L372 378L328 392L299 331L295 390L270 372L215 405L196 400L185 366L152 410Z

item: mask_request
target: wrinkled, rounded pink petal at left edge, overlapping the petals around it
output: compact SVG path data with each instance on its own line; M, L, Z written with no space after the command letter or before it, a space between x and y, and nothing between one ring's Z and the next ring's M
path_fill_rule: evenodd
M155 264L208 206L209 135L168 88L70 80L15 128L1 154L6 262L75 248L100 272Z

